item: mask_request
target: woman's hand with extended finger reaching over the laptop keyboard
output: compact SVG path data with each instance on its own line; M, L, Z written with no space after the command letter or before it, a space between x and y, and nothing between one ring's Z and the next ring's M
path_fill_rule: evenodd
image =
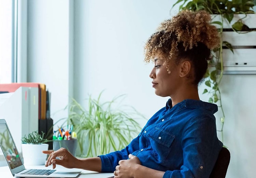
M56 164L61 165L66 168L74 168L76 162L78 161L66 148L60 148L57 151L42 151L45 154L49 154L49 157L45 163L45 166L53 164L53 169ZM56 159L59 158L59 159Z

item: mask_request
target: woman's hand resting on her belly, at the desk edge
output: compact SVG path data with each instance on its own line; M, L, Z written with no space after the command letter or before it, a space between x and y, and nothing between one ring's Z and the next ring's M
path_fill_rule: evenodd
M134 177L134 168L136 168L136 165L141 165L141 162L139 158L129 154L128 160L120 160L118 164L119 165L116 166L116 170L114 172L114 178L132 178Z

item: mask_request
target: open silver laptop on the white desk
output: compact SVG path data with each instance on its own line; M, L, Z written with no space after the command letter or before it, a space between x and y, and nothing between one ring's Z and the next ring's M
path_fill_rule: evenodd
M16 177L77 177L81 172L63 172L56 169L25 169L11 132L4 119L0 119L0 147L13 176Z

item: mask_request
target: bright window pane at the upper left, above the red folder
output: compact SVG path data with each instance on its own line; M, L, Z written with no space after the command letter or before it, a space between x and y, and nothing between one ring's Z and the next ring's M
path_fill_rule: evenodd
M14 74L14 0L0 0L0 84L11 83Z

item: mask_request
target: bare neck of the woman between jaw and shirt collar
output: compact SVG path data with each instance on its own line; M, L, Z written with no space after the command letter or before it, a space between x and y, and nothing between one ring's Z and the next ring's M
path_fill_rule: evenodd
M198 89L197 89L197 86L195 85L186 85L184 87L181 87L179 88L178 92L176 92L170 97L172 99L172 106L186 99L200 100Z

